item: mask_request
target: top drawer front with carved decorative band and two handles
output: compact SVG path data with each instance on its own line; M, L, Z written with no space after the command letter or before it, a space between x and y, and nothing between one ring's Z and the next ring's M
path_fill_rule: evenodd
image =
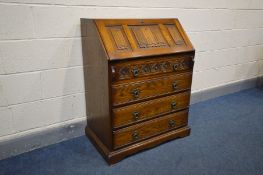
M168 58L154 62L135 62L129 64L117 64L115 80L125 80L134 77L143 77L159 73L178 72L192 69L191 57Z

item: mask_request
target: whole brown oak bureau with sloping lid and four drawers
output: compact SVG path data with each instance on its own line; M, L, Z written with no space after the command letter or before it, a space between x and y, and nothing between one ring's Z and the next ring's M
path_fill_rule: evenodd
M109 164L190 134L194 48L177 19L81 19L86 135Z

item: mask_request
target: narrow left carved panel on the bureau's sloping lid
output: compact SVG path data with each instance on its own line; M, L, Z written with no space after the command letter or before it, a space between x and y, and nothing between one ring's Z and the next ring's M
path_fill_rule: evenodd
M108 30L117 51L130 50L130 45L121 26L108 27Z

